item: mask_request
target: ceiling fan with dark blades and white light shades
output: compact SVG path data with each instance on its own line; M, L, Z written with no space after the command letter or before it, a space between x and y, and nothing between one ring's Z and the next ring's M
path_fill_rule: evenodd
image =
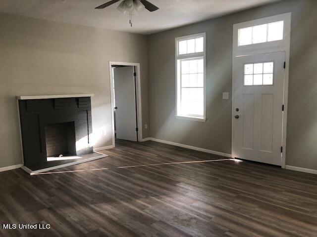
M100 6L97 6L95 9L103 9L113 3L116 3L120 0L111 0ZM159 9L156 5L152 4L147 0L122 0L117 9L121 11L123 14L129 12L130 14L130 25L132 27L132 15L137 12L143 11L146 8L149 11L156 11Z

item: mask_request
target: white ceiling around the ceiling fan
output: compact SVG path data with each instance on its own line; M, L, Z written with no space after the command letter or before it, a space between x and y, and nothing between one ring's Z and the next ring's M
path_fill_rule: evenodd
M277 0L149 0L160 9L129 16L119 2L95 9L109 0L0 0L0 12L117 31L151 34Z

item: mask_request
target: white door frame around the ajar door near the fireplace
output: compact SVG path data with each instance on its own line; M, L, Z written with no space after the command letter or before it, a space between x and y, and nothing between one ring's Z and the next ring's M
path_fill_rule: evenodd
M124 63L124 62L109 62L109 75L110 75L110 100L111 100L111 122L112 122L112 146L115 147L115 137L114 137L114 95L113 95L113 75L112 75L112 65L122 65L122 66L135 66L136 67L136 103L137 103L137 115L138 115L138 141L142 141L142 107L141 107L141 74L140 74L140 63Z

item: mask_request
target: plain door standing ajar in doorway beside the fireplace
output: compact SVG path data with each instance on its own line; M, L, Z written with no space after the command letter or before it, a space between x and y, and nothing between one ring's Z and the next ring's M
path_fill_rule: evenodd
M113 69L116 138L137 141L134 67Z

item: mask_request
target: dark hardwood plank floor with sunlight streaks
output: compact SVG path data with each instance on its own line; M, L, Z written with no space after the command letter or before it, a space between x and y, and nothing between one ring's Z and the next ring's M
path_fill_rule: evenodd
M0 224L51 225L0 236L317 237L317 175L151 141L103 152L51 173L0 173Z

